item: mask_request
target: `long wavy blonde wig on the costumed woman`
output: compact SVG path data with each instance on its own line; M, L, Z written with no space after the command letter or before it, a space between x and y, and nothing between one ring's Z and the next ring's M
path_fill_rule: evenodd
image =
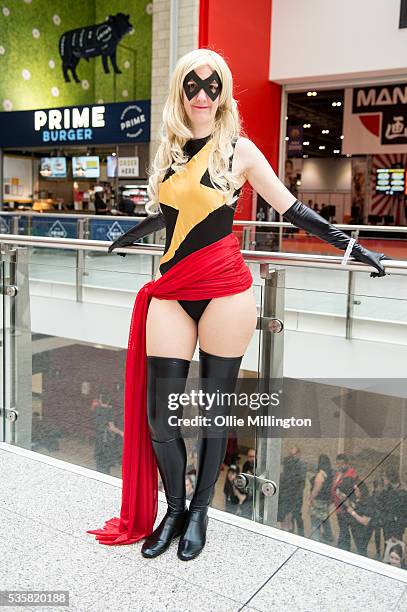
M194 135L183 104L182 84L188 72L206 64L217 71L222 81L209 152L209 176L213 187L225 196L226 204L231 204L233 192L239 187L238 177L229 171L229 158L233 153L231 141L234 137L244 134L238 105L233 98L232 73L223 57L215 51L195 49L178 60L171 76L159 132L160 143L149 168L147 188L149 202L146 204L146 211L149 214L160 210L158 186L167 170L171 167L175 172L182 172L183 166L188 161L182 149L187 140L194 138Z

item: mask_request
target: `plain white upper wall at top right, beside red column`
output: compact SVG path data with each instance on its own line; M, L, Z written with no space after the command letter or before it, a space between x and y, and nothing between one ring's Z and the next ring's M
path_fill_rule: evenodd
M400 0L273 0L270 80L407 76Z

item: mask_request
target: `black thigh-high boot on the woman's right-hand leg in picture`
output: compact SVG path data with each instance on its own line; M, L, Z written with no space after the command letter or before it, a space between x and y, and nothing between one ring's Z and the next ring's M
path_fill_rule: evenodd
M199 349L200 389L204 393L233 393L236 387L241 357L221 357ZM216 415L227 416L231 406L227 401L214 402L210 410L199 406L201 415L212 418L212 425L202 427L198 452L198 476L194 495L189 505L188 519L178 544L178 557L194 559L205 546L208 526L208 507L226 453L228 427L213 425Z

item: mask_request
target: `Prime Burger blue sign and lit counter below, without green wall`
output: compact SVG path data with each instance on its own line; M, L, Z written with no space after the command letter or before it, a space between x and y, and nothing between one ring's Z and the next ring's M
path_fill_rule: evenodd
M0 133L4 210L144 213L149 100L0 113Z

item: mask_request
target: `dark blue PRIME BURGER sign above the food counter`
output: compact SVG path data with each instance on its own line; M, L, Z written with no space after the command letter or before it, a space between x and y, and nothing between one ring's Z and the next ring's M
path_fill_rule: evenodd
M0 147L150 141L150 100L0 113Z

